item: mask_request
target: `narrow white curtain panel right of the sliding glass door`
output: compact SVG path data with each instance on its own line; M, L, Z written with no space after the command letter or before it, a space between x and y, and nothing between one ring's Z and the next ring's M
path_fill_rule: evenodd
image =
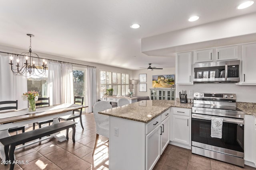
M92 106L96 103L96 68L87 67L87 100L88 112L92 112Z

